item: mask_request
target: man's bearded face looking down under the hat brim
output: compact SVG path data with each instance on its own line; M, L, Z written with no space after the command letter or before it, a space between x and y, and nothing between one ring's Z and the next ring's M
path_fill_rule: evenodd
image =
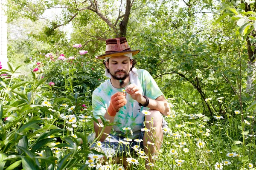
M132 61L127 56L111 57L106 62L111 77L117 80L125 80L129 76L132 67Z

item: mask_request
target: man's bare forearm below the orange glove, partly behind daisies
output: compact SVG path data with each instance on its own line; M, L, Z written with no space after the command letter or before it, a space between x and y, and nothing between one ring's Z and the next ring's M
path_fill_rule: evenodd
M114 116L109 116L108 112L105 113L104 115L105 119L109 120L111 123L114 121ZM99 121L99 123L102 123L101 119L97 119ZM99 127L96 122L94 122L94 130L96 133L96 137L98 137L102 131L102 127ZM109 134L112 130L112 126L106 126L104 129L104 133ZM107 135L106 134L102 134L102 136L100 137L99 141L103 142Z

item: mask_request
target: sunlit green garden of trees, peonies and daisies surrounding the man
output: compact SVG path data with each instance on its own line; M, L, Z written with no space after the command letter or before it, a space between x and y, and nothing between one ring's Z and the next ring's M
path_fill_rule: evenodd
M115 37L141 50L136 67L172 108L153 168L255 169L255 1L8 0L6 9L0 170L123 168L89 150L91 95L107 78L95 56ZM143 152L131 157L131 169L145 168Z

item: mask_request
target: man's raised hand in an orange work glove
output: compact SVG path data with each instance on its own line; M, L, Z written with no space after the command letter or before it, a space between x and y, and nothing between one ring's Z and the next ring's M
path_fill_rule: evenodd
M110 116L116 116L116 112L119 111L126 103L126 93L125 92L116 92L111 96L110 105L108 107L108 114Z

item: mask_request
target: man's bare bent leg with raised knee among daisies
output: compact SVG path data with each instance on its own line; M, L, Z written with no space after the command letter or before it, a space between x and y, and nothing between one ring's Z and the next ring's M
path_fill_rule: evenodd
M149 161L151 163L154 163L154 160L152 160L152 156L157 153L157 151L160 149L162 142L163 142L163 130L162 130L162 114L160 111L156 110L148 110L151 112L150 115L146 115L146 128L148 128L150 131L144 133L143 138L143 145L145 153L148 155ZM149 122L148 121L153 122ZM151 142L152 144L148 144L147 142ZM146 164L148 161L146 161ZM146 166L147 169L149 169L149 166Z

